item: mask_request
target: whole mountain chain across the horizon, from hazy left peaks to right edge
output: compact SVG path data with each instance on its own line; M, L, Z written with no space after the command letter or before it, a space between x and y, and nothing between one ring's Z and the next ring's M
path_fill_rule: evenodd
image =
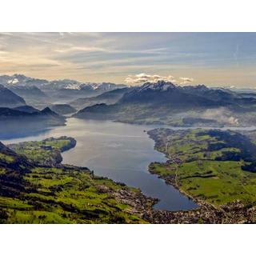
M22 107L21 112L30 114L34 110L25 109L26 105L38 110L50 106L58 114L79 110L73 115L76 118L170 126L247 126L256 121L256 98L226 88L164 81L127 87L70 79L47 81L22 74L0 76L0 82L0 106Z

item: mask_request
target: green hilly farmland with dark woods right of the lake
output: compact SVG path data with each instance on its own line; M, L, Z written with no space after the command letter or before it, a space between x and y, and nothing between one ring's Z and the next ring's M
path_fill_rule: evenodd
M166 163L152 163L152 173L215 205L234 200L256 205L256 173L242 169L254 162L256 153L246 136L232 131L168 129L152 130L150 136L170 158Z

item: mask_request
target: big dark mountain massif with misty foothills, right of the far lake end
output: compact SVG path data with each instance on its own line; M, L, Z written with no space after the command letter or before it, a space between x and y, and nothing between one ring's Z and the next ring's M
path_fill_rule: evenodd
M198 121L214 126L241 126L256 121L255 110L255 98L242 97L232 90L204 85L176 86L159 81L134 87L112 105L87 106L74 117L172 126L191 125L191 122L197 125Z

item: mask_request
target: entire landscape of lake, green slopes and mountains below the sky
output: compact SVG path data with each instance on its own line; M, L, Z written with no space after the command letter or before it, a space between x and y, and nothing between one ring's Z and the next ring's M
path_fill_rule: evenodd
M20 74L1 82L1 222L256 221L253 94Z

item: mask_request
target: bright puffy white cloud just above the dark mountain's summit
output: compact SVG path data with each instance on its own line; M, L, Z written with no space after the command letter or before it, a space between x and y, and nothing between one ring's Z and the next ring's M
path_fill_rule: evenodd
M158 81L166 81L166 82L177 82L172 75L161 76L158 74L135 74L134 76L129 75L125 82L129 84L139 84L145 82L158 82Z

